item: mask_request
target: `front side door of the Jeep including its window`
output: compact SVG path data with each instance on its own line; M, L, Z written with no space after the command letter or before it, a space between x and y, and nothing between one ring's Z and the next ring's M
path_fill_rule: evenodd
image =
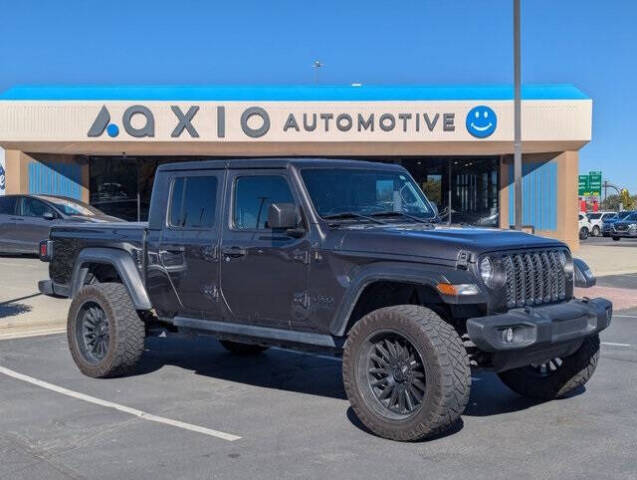
M230 319L290 328L307 307L309 241L268 228L272 203L295 203L285 169L229 172L221 293Z

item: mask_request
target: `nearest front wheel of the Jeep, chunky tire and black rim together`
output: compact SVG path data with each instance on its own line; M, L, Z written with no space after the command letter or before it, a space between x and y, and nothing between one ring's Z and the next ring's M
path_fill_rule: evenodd
M420 440L449 429L469 400L469 357L454 328L432 310L375 310L350 330L343 383L354 412L373 433Z

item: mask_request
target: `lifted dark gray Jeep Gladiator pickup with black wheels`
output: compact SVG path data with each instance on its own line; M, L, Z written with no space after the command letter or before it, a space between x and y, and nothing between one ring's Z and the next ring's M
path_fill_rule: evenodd
M72 297L68 342L86 375L130 372L158 328L243 355L330 352L356 415L395 440L457 422L472 367L541 399L586 383L612 315L573 296L590 270L559 241L437 219L398 165L168 164L147 224L52 228L40 290Z

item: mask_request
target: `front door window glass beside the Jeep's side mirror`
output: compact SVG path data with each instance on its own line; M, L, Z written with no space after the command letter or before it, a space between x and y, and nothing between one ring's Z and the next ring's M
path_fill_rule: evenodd
M285 177L254 175L237 178L232 212L234 227L239 230L265 229L268 209L273 203L294 203Z

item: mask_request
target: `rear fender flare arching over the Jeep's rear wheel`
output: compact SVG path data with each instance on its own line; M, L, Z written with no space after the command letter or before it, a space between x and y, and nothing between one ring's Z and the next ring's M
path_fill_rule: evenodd
M152 308L144 282L133 261L133 257L125 250L116 248L85 248L79 253L75 260L73 276L71 277L71 298L84 285L84 280L88 274L88 268L84 265L87 263L112 265L122 279L126 290L128 290L135 308L137 310L150 310Z

